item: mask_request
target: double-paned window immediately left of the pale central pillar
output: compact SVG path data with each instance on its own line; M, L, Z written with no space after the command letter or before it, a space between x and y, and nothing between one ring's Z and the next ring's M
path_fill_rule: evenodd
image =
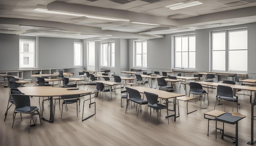
M115 67L115 42L101 43L101 66Z

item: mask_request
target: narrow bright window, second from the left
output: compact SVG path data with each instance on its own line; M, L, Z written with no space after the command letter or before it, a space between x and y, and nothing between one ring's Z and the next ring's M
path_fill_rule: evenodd
M74 66L83 66L83 43L74 42Z

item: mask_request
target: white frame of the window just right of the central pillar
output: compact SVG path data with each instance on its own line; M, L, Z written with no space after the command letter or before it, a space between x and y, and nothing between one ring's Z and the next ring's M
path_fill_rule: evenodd
M137 43L141 43L141 53L137 53ZM143 43L146 43L147 45L147 40L135 40L134 41L134 67L141 67L141 68L146 68L147 67L147 54L148 54L148 50L146 46L146 53L144 53L145 48L143 47ZM141 66L137 66L137 55L141 54ZM146 55L146 57L145 57Z

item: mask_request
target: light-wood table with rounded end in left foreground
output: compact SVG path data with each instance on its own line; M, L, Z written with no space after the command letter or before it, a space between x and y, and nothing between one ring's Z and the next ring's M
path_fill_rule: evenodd
M67 90L67 88L55 88L49 86L36 86L36 87L18 87L20 92L31 97L49 97L50 98L50 117L49 120L41 117L47 122L54 122L53 116L53 97L61 95L86 95L92 93L88 90ZM42 111L42 110L41 110ZM42 114L41 114L42 115ZM43 116L43 115L42 115Z

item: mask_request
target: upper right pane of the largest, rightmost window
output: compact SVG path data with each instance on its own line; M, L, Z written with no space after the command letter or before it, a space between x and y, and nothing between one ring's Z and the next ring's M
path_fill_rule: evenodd
M229 50L247 50L247 31L229 32Z

